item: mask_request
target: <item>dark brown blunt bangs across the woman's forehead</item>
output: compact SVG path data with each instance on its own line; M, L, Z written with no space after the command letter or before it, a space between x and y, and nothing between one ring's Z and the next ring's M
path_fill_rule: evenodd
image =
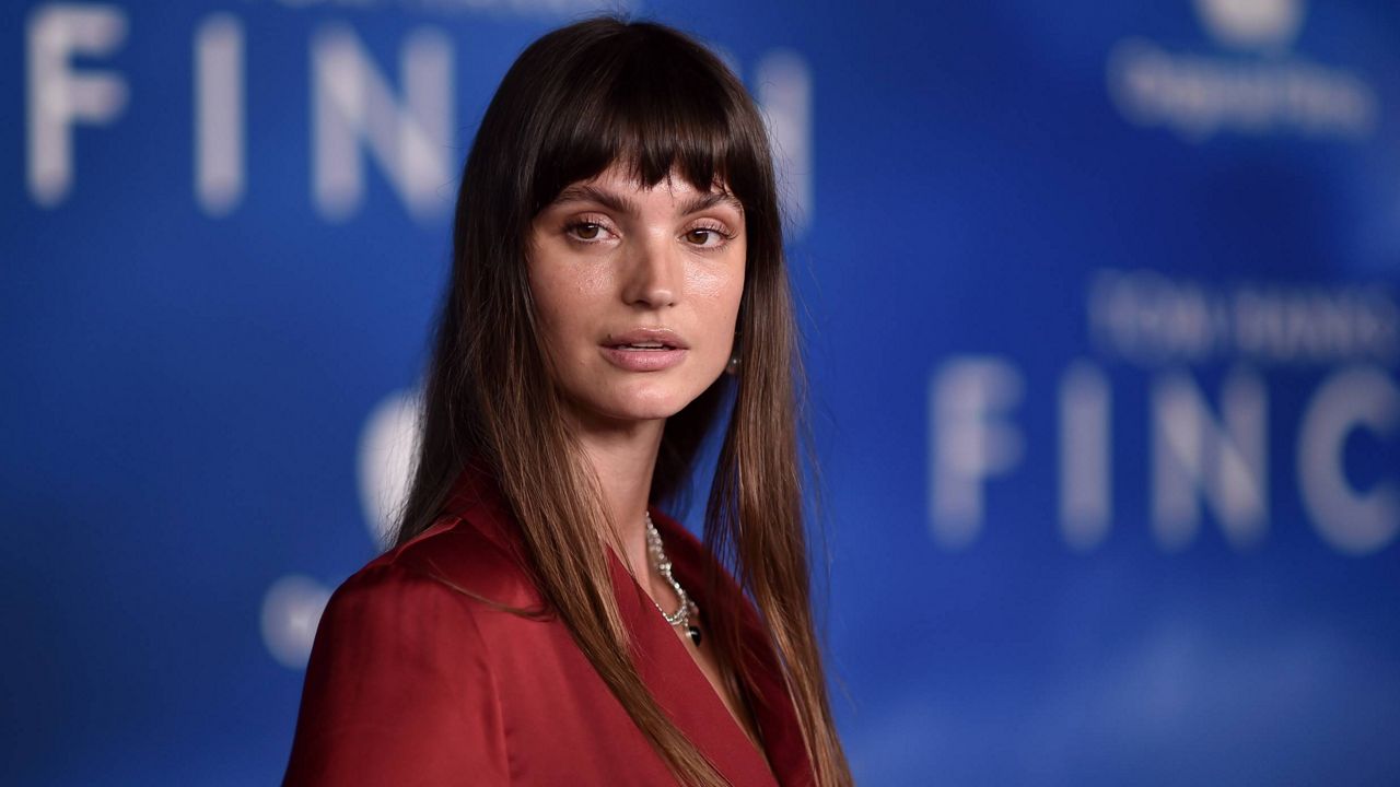
M763 120L711 52L634 22L564 55L550 85L559 94L542 97L557 112L539 119L533 213L615 162L645 188L675 172L697 190L728 190L746 213L767 213L771 160Z

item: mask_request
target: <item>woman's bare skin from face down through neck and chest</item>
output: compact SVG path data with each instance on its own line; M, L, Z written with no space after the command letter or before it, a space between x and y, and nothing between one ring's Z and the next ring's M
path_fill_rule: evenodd
M724 372L743 290L743 210L722 189L682 178L655 188L619 167L564 189L531 232L531 290L542 343L570 402L584 454L602 483L619 556L666 611L679 598L651 566L645 511L666 419ZM637 329L664 329L680 344L665 368L634 368L658 347L617 346ZM669 339L668 339L669 342ZM609 347L612 351L609 351ZM623 353L624 360L616 360ZM603 534L608 538L609 534ZM736 686L710 637L696 646L673 627L735 723L762 752Z

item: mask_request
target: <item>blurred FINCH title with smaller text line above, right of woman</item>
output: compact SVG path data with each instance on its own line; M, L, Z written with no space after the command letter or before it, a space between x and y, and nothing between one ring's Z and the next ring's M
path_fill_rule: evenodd
M1057 424L1047 448L1056 520L1071 549L1102 545L1114 520L1145 520L1163 552L1179 552L1210 514L1246 550L1268 535L1280 500L1338 553L1371 555L1396 541L1400 476L1385 445L1400 443L1400 307L1389 286L1232 286L1100 270L1085 316L1092 353L1049 388L1035 389L1004 356L953 357L934 371L928 508L939 545L974 543L990 490L1015 486L1035 402L1051 402ZM1289 408L1275 412L1275 399ZM1280 423L1295 412L1294 423ZM1116 503L1124 482L1147 487L1144 510Z

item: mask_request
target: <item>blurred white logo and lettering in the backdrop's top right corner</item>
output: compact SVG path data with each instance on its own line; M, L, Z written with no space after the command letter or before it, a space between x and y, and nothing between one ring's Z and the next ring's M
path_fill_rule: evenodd
M1303 0L1196 0L1208 46L1182 49L1145 36L1119 41L1107 57L1109 97L1140 126L1189 141L1215 134L1292 134L1365 140L1380 105L1361 71L1294 52Z

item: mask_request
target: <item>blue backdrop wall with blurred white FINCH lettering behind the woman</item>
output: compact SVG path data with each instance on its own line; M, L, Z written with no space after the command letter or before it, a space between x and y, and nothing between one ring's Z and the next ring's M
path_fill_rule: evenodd
M609 7L781 151L861 784L1400 783L1400 6ZM592 10L0 8L0 781L277 781L473 130Z

